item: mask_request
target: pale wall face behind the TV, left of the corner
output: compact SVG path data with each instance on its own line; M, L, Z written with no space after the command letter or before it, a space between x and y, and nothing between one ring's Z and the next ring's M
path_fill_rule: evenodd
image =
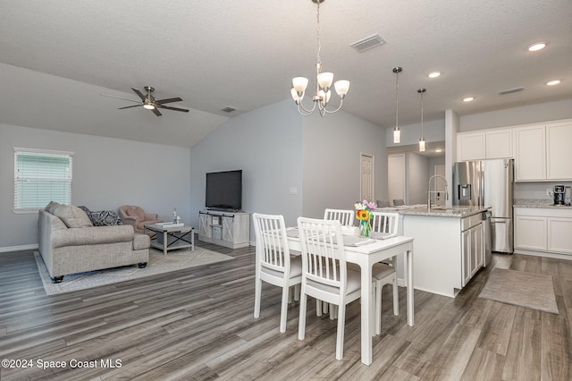
M302 213L302 117L293 106L282 101L231 118L191 148L192 224L205 208L205 174L233 169L242 170L243 210L280 214L296 224Z

